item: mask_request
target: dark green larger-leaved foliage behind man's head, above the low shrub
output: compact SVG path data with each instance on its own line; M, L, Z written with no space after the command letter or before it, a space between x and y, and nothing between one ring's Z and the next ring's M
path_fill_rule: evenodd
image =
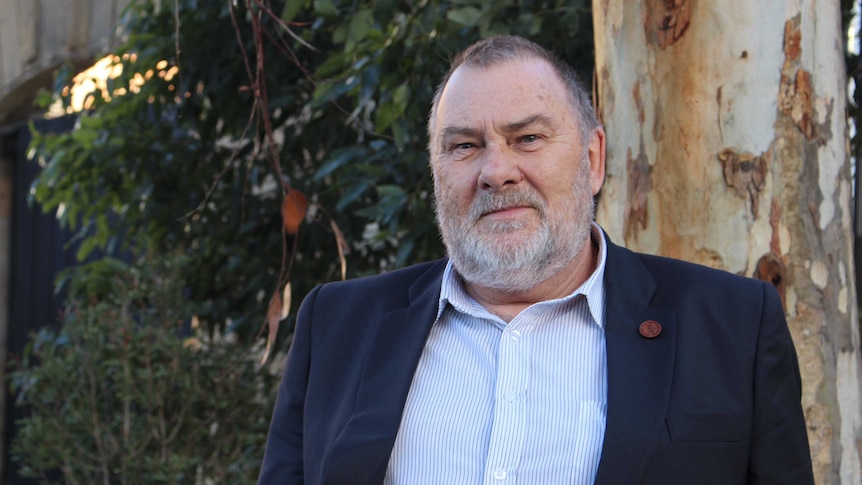
M176 2L129 7L114 51L123 74L109 83L125 94L94 96L72 133L35 134L35 199L62 208L82 258L184 252L184 296L199 317L233 322L248 341L281 268L294 301L340 277L331 221L347 241L348 277L443 255L425 121L454 52L515 33L592 71L585 0ZM72 74L55 91L67 104ZM134 79L145 80L138 92ZM286 240L282 184L309 200ZM292 263L284 248L295 248Z

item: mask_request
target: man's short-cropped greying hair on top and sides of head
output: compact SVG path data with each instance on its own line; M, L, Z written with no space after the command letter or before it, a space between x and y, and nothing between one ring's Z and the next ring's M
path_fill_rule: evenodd
M452 73L461 66L479 67L487 69L507 61L537 58L546 61L557 73L560 80L569 93L569 103L578 123L578 134L581 143L585 146L589 143L592 131L601 126L596 111L593 109L590 93L584 88L580 77L572 66L557 57L551 51L536 44L535 42L514 35L500 35L480 40L458 54L449 66L449 72L443 76L443 80L434 92L434 101L431 103L431 112L428 116L428 151L434 156L434 117L437 107L443 95L443 89Z

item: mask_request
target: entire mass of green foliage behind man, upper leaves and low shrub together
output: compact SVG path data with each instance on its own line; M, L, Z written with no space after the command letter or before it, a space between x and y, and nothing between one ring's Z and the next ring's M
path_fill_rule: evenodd
M590 76L588 6L132 0L112 52L122 74L74 131L31 144L33 197L87 262L58 278L65 326L35 336L13 376L29 410L14 448L24 471L252 480L274 391L243 349L260 346L284 273L293 301L341 277L339 232L348 277L442 256L425 122L450 56L515 33ZM59 72L46 107L71 106L74 76ZM308 199L295 235L282 229L287 187ZM192 316L205 330L189 346Z

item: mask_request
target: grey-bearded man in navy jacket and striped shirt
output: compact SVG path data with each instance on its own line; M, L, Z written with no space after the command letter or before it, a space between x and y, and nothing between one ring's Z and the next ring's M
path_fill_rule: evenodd
M309 294L259 483L813 483L776 292L606 238L571 68L481 41L429 137L449 259Z

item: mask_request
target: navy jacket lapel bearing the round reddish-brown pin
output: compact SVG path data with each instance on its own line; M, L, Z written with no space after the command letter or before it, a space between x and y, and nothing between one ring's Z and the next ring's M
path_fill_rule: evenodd
M608 241L605 269L608 413L595 483L639 483L664 426L676 349L672 311L651 308L655 281L640 258ZM661 333L641 335L654 320Z

